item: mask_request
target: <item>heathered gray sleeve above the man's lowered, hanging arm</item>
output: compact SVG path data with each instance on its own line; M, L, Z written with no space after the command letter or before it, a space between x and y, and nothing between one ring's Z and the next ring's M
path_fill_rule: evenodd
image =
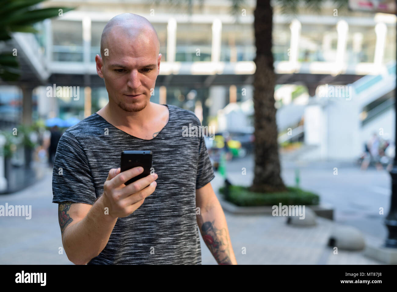
M212 167L203 135L200 137L200 147L198 153L196 189L202 188L215 177L214 168Z

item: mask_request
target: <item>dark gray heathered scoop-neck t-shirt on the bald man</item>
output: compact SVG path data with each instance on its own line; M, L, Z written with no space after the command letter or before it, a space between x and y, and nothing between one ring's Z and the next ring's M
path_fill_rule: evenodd
M192 111L165 106L169 121L151 140L131 136L94 113L59 141L53 203L93 205L109 170L120 167L122 150L151 150L158 174L156 190L134 213L117 219L108 244L88 264L201 264L196 189L209 183L214 171L204 137L182 135L183 126L199 127L200 120Z

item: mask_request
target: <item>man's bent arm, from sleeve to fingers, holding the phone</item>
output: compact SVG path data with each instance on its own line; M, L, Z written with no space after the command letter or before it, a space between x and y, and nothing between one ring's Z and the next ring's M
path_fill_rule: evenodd
M154 192L156 173L127 186L124 184L142 172L143 167L134 167L122 173L120 168L110 169L104 183L104 192L93 205L59 203L62 244L71 262L85 265L98 256L108 243L117 219L132 214ZM106 213L105 207L108 208Z

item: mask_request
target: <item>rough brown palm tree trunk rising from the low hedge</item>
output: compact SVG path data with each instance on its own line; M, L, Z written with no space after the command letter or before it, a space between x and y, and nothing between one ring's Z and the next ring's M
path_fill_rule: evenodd
M254 11L256 71L254 74L255 168L251 190L286 190L280 176L272 54L273 10L270 0L257 0Z

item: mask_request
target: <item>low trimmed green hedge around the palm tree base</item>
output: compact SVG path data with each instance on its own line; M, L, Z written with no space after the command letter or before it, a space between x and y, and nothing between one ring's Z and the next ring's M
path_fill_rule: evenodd
M225 198L225 187L219 188ZM318 205L320 196L300 188L287 186L286 192L257 193L245 186L229 186L229 196L225 200L237 206L274 206L274 205Z

